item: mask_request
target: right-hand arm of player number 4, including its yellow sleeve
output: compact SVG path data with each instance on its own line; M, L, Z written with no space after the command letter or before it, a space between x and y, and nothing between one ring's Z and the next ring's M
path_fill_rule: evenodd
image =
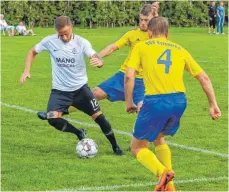
M218 119L221 116L221 112L216 102L216 97L210 78L187 51L184 53L184 55L186 70L199 81L204 93L208 98L210 116L213 120Z

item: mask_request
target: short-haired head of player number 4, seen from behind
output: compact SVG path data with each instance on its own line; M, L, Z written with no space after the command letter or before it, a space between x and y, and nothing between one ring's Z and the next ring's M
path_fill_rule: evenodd
M154 17L148 24L149 37L168 37L169 22L165 17Z

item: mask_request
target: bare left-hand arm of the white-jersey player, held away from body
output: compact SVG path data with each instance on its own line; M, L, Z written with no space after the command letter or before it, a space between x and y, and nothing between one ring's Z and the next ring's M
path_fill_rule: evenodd
M37 52L35 51L35 48L32 48L26 57L26 61L25 61L25 69L24 69L24 73L22 73L21 78L20 78L20 83L24 84L27 78L30 78L30 69L31 69L31 65L33 63L33 60L35 58L35 56L37 55Z

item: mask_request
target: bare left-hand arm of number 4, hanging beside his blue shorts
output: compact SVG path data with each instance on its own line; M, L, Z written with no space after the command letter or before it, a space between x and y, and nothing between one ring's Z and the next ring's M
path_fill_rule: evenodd
M135 69L128 68L125 75L125 101L126 111L134 113L137 111L137 106L133 103L133 89L134 89Z

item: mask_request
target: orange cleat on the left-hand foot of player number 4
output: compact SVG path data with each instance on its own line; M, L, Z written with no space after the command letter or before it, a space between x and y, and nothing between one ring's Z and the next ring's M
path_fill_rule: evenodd
M158 184L154 188L154 191L165 191L167 184L174 178L173 170L166 170L158 180Z

